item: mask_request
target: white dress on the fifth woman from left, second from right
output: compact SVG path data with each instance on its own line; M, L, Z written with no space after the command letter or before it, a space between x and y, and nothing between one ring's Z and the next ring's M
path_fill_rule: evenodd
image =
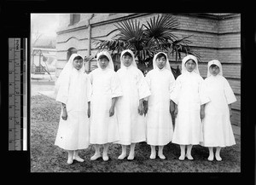
M195 72L183 72L176 79L171 96L177 104L173 143L195 145L203 140L200 110L208 99L201 92L202 82L203 78Z

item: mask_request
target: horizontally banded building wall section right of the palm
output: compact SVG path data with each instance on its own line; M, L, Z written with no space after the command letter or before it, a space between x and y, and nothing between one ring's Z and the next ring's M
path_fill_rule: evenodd
M189 40L192 49L200 53L199 70L207 77L207 62L217 59L222 63L224 77L230 83L237 101L232 105L231 123L241 126L241 16L224 14L204 16L201 14L176 14L180 28L179 37L193 35ZM183 55L184 56L184 55ZM183 57L182 56L182 57ZM181 67L171 57L171 66Z

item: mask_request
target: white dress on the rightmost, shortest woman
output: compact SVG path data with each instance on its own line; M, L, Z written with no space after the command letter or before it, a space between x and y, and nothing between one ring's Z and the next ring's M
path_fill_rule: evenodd
M228 104L236 101L230 84L221 75L210 76L204 81L204 91L211 100L205 107L203 119L203 138L205 147L227 147L235 145L233 130L230 124Z

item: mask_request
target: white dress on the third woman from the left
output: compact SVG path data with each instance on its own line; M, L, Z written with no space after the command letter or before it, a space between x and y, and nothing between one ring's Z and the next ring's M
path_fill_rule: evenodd
M123 96L116 102L119 123L119 144L130 145L146 141L146 119L138 113L139 100L150 91L143 72L136 66L121 67L117 72Z

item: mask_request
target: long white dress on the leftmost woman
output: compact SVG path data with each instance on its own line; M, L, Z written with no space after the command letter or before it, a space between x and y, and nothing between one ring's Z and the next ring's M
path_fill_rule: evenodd
M56 101L66 104L67 120L60 118L55 145L66 150L89 147L89 119L87 116L90 101L90 80L86 73L73 68L69 83L61 84Z

